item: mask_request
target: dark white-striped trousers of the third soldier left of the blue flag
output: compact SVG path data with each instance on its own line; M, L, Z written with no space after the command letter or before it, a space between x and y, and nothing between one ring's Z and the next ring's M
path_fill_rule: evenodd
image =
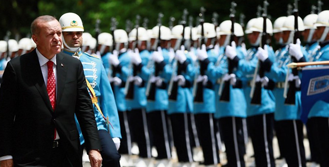
M227 166L245 167L245 140L241 117L219 118L219 127L225 143Z

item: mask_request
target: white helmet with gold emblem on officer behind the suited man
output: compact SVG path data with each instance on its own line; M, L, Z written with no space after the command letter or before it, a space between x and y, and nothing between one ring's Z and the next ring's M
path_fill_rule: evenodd
M82 20L75 13L65 13L59 18L62 31L83 31Z

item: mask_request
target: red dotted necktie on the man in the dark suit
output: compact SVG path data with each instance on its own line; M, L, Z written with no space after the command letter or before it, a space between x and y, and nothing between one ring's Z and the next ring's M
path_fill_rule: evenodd
M55 81L53 65L54 65L53 61L48 61L47 62L47 67L48 67L47 92L48 92L50 104L53 107L53 111L55 111L55 106L56 106L56 81ZM55 129L54 139L56 139L56 129Z

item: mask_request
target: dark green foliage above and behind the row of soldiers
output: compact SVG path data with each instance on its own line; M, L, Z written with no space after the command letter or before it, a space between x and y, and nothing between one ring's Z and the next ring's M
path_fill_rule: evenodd
M275 18L287 15L287 4L294 0L268 0L268 13ZM57 19L66 12L74 12L82 18L86 32L95 34L95 21L101 20L100 28L103 32L110 32L110 18L115 17L119 22L118 28L125 29L127 19L135 22L136 15L148 18L148 28L157 23L158 13L164 13L163 25L168 26L169 18L175 17L174 25L181 19L184 8L194 17L200 7L206 8L205 20L211 22L213 12L219 14L219 23L229 19L230 0L1 0L0 1L0 40L7 30L12 34L10 38L20 39L30 35L31 22L40 15L52 15ZM237 3L237 21L240 13L246 15L245 23L256 17L257 5L262 0L235 0ZM322 10L329 9L324 2ZM326 4L327 3L327 4ZM311 11L311 5L317 5L317 0L300 0L300 16L304 18ZM195 22L194 22L195 26Z

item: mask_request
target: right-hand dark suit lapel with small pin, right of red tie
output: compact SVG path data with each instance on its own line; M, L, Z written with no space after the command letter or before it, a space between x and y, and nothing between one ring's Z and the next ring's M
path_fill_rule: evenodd
M60 102L60 99L63 94L64 90L64 85L65 85L65 80L66 80L66 74L67 74L67 69L66 64L64 61L64 55L63 53L59 53L56 55L56 67L57 67L57 100L56 100L56 105Z

